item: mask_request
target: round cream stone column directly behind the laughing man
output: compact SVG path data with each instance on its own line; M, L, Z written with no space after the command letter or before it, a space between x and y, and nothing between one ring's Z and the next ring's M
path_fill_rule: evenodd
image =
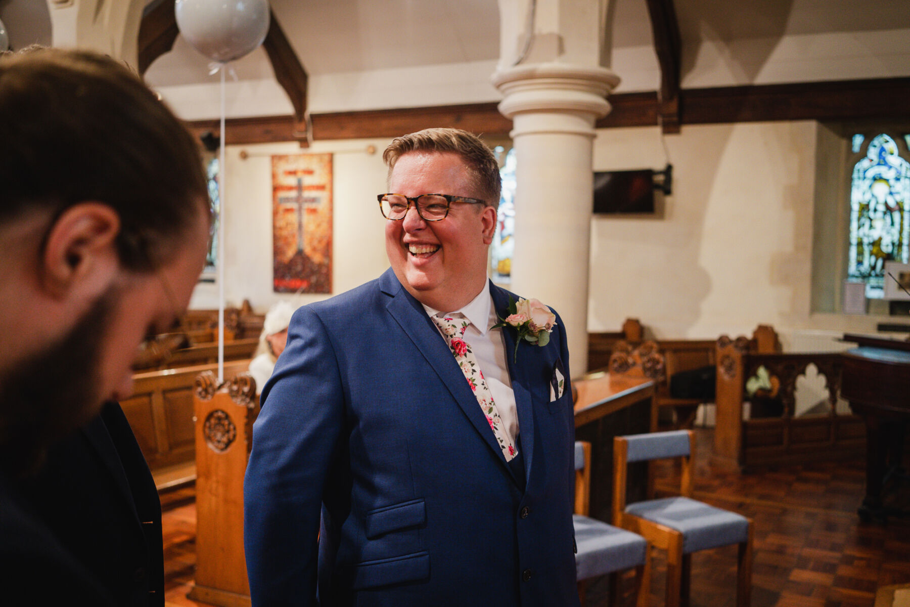
M560 313L571 376L588 364L594 123L619 77L601 66L610 0L500 0L501 60L492 76L512 119L515 251L511 288ZM516 24L530 23L533 35Z

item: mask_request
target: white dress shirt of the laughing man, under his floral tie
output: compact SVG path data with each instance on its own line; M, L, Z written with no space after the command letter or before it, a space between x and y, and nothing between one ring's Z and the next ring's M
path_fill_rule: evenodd
M516 445L518 436L518 411L515 409L515 393L511 389L511 378L509 377L509 362L506 359L506 344L502 337L502 329L492 329L490 327L500 321L496 316L496 309L493 308L493 298L490 297L489 283L484 283L483 288L476 298L460 310L446 311L444 314L440 310L432 309L430 306L423 306L430 317L433 316L452 316L461 313L464 318L470 320L470 325L464 331L464 340L470 345L471 351L477 358L477 364L483 372L483 379L487 381L487 387L493 395L493 402L496 404L496 410L500 413L502 427L511 440ZM437 329L439 329L437 327ZM440 331L440 335L442 332Z

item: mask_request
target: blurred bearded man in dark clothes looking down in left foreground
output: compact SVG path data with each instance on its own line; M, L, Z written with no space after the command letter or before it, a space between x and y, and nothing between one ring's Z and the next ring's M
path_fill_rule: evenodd
M0 56L0 588L163 605L161 511L116 400L177 322L210 218L195 139L126 66Z

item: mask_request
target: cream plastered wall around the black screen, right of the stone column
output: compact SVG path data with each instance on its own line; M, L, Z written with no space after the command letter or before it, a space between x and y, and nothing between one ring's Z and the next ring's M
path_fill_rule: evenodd
M664 137L672 196L654 217L595 217L589 330L635 317L652 336L715 339L759 323L825 349L882 318L810 310L816 123L683 126ZM660 169L656 127L601 129L594 170Z

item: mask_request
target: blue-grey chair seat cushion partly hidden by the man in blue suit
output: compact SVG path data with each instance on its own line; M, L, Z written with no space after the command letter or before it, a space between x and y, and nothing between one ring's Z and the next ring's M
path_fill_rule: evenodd
M575 572L577 580L587 580L621 572L644 564L648 542L637 533L605 522L572 514L575 526Z

